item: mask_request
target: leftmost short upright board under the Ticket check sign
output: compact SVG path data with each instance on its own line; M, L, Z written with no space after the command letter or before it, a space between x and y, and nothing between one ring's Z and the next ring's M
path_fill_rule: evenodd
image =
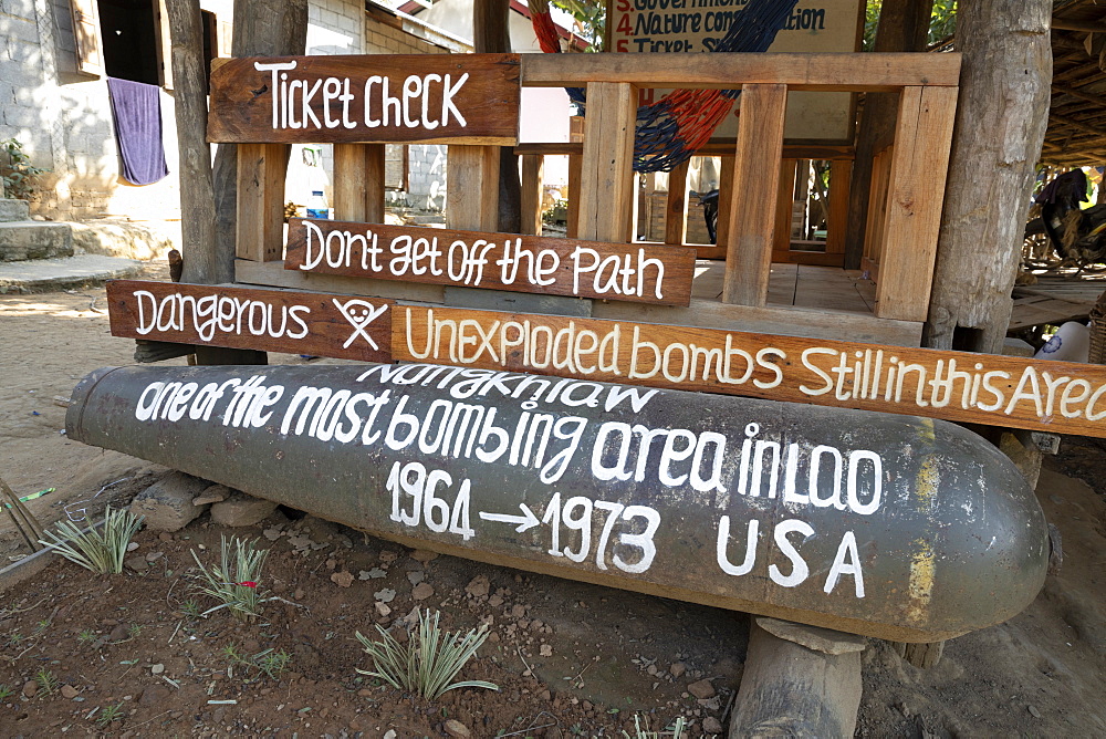
M240 144L238 147L239 259L271 262L283 259L284 176L286 144Z

